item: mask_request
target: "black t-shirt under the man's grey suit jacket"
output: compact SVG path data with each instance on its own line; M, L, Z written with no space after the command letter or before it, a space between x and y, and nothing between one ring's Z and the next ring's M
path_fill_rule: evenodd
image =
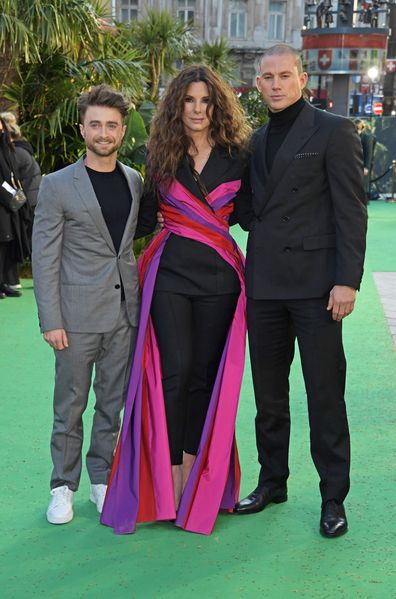
M109 173L94 171L88 166L85 168L118 253L132 204L128 182L118 165Z

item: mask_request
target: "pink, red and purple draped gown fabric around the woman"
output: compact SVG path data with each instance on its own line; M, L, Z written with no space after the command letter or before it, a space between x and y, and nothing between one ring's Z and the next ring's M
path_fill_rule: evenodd
M161 194L164 228L139 260L142 307L124 419L102 524L117 534L137 522L175 520L185 530L210 534L219 510L231 510L239 494L240 468L235 419L245 359L244 258L229 234L228 218L241 180L221 183L196 198L178 180ZM220 360L197 457L175 509L161 360L150 318L156 274L173 233L207 244L236 271L241 291Z

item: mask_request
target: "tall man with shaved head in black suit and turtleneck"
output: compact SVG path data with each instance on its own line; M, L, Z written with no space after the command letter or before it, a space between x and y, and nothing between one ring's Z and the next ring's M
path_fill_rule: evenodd
M306 82L296 50L282 44L264 52L257 87L270 120L253 137L252 206L241 218L249 229L246 288L261 470L257 488L235 511L254 513L287 500L289 372L297 338L320 476L320 530L335 537L347 530L350 464L341 329L362 278L367 213L354 126L305 102Z

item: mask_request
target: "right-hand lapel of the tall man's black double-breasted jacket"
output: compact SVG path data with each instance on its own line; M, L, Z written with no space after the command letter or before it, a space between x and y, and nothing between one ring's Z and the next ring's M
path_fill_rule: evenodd
M264 204L262 209L271 199L277 185L282 181L283 174L298 151L312 137L319 126L315 123L315 110L306 104L294 121L283 144L276 153L271 172L266 181Z

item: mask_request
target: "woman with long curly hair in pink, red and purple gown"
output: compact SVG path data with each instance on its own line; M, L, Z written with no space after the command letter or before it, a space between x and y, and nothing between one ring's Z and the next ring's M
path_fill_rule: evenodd
M235 418L245 355L244 259L229 233L250 129L230 87L192 66L154 117L140 259L142 308L124 421L101 522L175 520L210 534L238 499Z

